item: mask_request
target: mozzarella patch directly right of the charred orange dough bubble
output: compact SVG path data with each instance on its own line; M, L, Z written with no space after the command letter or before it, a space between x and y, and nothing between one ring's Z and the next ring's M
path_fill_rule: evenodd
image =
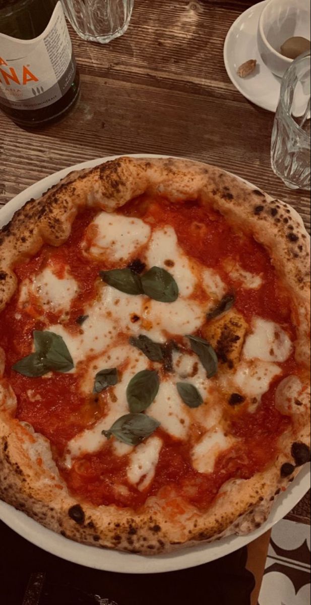
M276 362L289 358L292 342L280 325L258 317L252 321L252 330L244 344L244 358Z

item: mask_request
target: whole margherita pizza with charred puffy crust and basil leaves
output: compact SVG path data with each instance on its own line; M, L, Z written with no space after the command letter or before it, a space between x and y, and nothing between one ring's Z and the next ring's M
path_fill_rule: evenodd
M244 534L310 460L309 238L185 160L73 172L0 231L0 497L81 543Z

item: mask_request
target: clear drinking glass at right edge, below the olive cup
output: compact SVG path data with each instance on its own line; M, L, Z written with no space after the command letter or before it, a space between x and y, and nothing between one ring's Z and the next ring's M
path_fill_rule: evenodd
M283 76L271 163L287 187L310 189L310 51L297 57Z

